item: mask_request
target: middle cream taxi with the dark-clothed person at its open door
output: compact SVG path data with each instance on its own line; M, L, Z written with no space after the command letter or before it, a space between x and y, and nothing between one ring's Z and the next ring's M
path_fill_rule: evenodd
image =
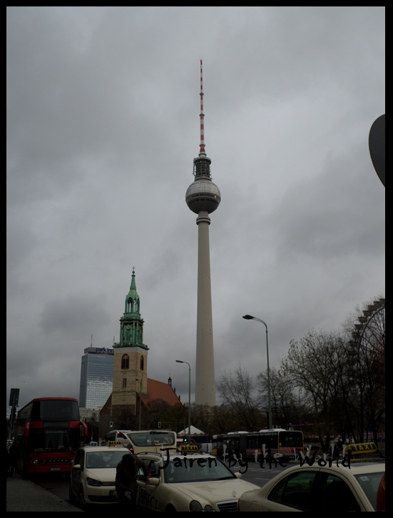
M180 447L181 448L181 447ZM188 447L192 449L193 447ZM143 511L236 511L238 498L258 486L240 480L213 455L196 451L162 454L138 453L151 474L144 482L143 470L137 475L139 509ZM258 488L259 489L259 488Z

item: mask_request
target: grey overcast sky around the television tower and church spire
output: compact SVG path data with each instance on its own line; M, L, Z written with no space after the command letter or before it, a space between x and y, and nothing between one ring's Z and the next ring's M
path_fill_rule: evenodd
M382 7L10 7L7 393L79 397L81 355L111 347L136 268L148 377L195 380L206 152L216 382L279 367L384 293ZM316 366L317 367L317 366ZM193 395L192 395L193 399Z

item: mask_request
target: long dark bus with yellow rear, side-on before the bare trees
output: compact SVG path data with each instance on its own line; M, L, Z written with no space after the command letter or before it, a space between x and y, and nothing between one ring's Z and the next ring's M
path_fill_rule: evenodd
M285 461L294 459L295 453L304 453L303 432L273 428L259 432L229 432L213 435L212 453L225 460L228 450L231 450L236 457L254 460L255 450L257 450L259 462L263 445L265 445L265 452L270 449L272 455L282 454Z

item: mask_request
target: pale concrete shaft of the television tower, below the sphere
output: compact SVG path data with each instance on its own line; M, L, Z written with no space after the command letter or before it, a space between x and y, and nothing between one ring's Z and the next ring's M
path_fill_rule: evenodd
M195 405L215 406L212 291L210 283L210 218L200 210L198 225L198 307Z

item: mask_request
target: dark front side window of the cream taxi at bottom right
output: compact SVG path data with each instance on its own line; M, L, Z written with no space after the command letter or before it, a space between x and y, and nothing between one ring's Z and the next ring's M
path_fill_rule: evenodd
M313 507L317 474L315 471L302 471L288 475L273 487L267 499L302 511L315 510Z

